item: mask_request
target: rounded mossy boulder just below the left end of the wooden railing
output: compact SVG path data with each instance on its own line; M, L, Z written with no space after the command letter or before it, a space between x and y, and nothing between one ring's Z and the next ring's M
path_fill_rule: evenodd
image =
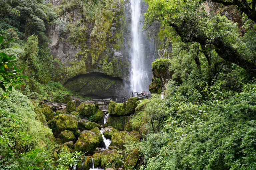
M87 102L82 102L76 110L81 114L85 116L92 116L94 115L98 110L99 107L92 104L92 103L87 103Z

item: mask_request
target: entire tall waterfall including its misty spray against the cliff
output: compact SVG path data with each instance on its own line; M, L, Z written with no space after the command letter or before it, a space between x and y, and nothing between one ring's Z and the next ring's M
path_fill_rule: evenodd
M151 62L154 60L152 53L150 58L146 54L149 48L146 41L145 32L142 31L143 26L143 11L142 0L130 0L132 11L131 23L131 90L135 92L148 91L148 86L151 82L152 70ZM146 40L146 41L145 41ZM148 91L149 92L149 91Z

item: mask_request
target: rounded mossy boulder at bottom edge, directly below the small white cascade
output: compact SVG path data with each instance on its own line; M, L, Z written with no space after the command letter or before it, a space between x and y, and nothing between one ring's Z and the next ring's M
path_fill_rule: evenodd
M122 155L119 154L119 152L116 149L106 149L103 151L103 153L101 154L101 158L100 158L100 162L101 162L101 166L103 168L106 167L106 165L108 164L109 167L121 167L122 165Z

